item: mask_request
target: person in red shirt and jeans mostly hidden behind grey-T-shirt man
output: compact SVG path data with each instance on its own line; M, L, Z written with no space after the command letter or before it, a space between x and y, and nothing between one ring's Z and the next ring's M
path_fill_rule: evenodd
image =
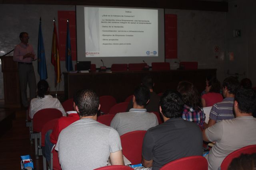
M77 100L76 95L77 94L75 94L74 96L74 100ZM73 102L73 107L74 110L76 110L75 102ZM58 136L60 135L62 129L68 127L68 125L74 123L75 121L78 121L79 119L80 117L76 111L68 111L67 117L61 117L60 119L58 119L54 129L46 133L45 147L42 148L42 153L48 162L50 162L52 147L54 147L54 145L57 143Z

